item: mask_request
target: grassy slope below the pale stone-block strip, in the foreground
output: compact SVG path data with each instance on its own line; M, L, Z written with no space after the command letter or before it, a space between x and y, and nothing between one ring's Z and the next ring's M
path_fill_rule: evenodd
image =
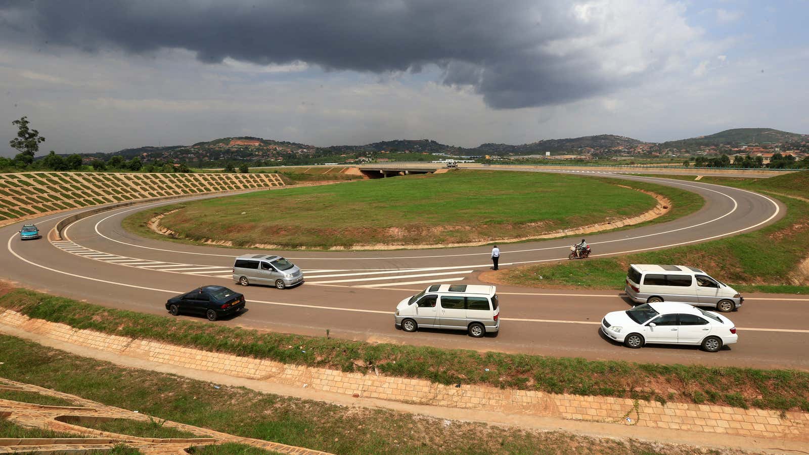
M0 375L14 381L138 410L159 419L330 453L738 453L337 406L227 385L217 389L210 382L122 368L6 335L0 335L0 352L6 362L0 366Z

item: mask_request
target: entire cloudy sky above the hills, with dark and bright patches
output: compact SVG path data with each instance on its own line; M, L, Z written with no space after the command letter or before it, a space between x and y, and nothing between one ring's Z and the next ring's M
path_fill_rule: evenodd
M0 0L0 155L809 133L809 0Z

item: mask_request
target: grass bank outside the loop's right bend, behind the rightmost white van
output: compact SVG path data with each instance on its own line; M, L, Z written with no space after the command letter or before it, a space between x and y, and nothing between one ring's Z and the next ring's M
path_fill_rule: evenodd
M503 270L498 281L529 287L623 289L629 264L684 264L699 267L739 291L809 293L809 277L798 270L809 258L809 172L767 179L704 177L700 181L777 198L786 205L786 216L755 232L697 245Z

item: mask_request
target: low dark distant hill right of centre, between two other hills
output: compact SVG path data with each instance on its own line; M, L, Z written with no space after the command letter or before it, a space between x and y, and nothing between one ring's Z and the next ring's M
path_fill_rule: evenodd
M581 138L543 139L537 142L522 145L485 143L472 149L481 154L510 154L532 155L546 151L566 153L582 149L614 149L636 147L646 142L614 134L599 134L596 136L582 136Z

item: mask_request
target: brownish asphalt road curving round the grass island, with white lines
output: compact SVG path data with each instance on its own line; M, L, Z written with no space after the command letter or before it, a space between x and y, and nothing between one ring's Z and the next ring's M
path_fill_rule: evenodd
M604 175L600 175L604 176ZM742 189L656 177L615 176L654 181L688 189L705 198L692 215L667 223L588 235L593 256L607 256L688 245L752 231L785 213L777 201ZM630 359L660 363L699 363L758 368L809 370L809 298L746 296L730 317L739 342L716 354L695 347L649 346L629 350L602 337L605 313L629 308L617 291L547 291L499 286L502 325L498 336L396 330L392 311L406 296L428 283L479 283L491 266L489 246L395 250L385 252L273 252L301 266L302 286L237 287L231 279L233 257L246 250L183 245L135 236L121 219L146 206L110 210L79 220L66 229L66 240L19 240L16 224L0 229L6 250L0 276L42 291L115 308L166 314L167 297L204 284L231 286L244 292L248 311L218 323L299 334L366 341L401 342L481 351ZM43 232L67 215L35 220ZM578 238L576 239L578 240ZM574 240L546 240L501 245L501 266L557 261ZM254 253L254 250L249 251ZM718 277L722 278L722 277Z

